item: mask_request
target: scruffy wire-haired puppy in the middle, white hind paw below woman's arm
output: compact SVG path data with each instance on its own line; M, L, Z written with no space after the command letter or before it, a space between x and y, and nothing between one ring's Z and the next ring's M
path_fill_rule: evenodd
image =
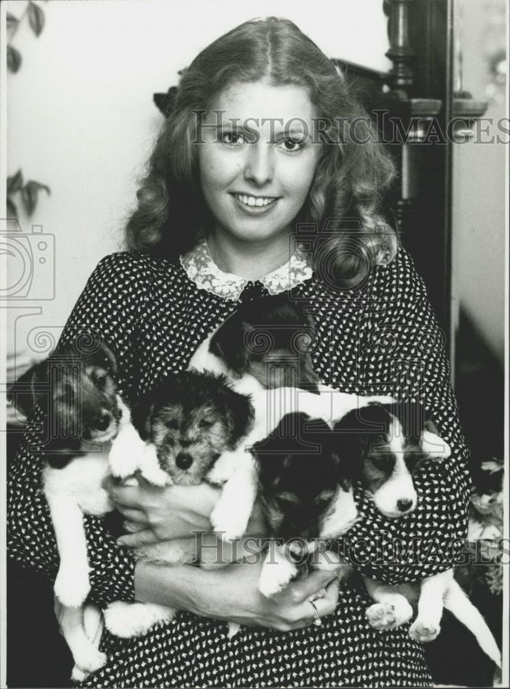
M132 422L145 452L154 453L167 483L194 486L209 481L223 486L218 504L223 505L227 520L246 504L251 512L255 500L254 463L244 462L237 470L228 466L224 471L221 460L249 432L253 417L249 397L233 390L225 376L197 371L169 376L132 409ZM189 555L172 542L143 546L135 555L168 564L189 562ZM132 637L146 633L157 622L172 620L175 612L159 605L116 601L105 610L105 625L119 637Z

